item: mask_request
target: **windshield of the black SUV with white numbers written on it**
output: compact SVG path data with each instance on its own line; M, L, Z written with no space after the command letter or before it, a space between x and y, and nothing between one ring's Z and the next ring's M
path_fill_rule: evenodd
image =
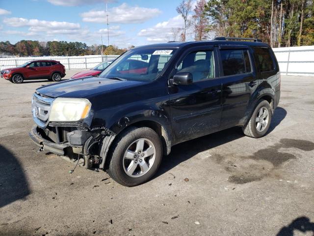
M113 61L99 77L152 81L161 73L177 49L132 49Z

